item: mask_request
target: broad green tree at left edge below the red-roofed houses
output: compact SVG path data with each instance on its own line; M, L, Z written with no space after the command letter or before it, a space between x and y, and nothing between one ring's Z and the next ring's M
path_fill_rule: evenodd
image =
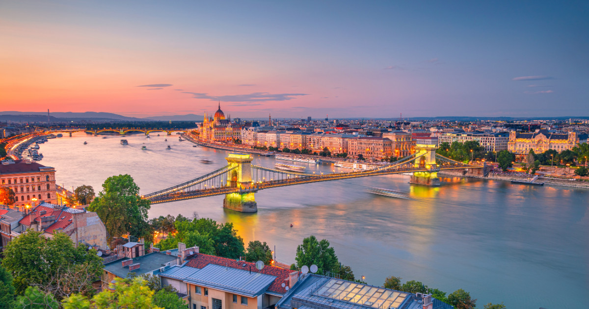
M28 230L6 245L2 266L12 273L16 293L24 293L28 285L39 285L59 297L73 289L87 291L85 287L102 272L102 259L95 250L74 247L70 237L61 232L45 238L41 232ZM73 268L84 270L84 276L59 281Z

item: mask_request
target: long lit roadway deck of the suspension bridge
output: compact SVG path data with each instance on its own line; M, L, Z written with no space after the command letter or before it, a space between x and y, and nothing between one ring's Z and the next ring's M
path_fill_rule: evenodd
M164 202L174 202L181 200L188 200L190 198L201 198L210 197L214 195L230 194L230 193L249 193L257 192L263 189L286 187L287 185L299 185L299 184L310 184L312 182L319 181L331 181L331 180L343 180L350 178L369 177L378 175L391 175L391 174L402 174L407 172L437 172L441 170L455 170L457 168L465 168L464 165L441 165L435 169L429 168L415 168L415 167L402 167L402 168L389 168L380 169L373 171L361 171L361 172L346 172L338 174L325 174L325 175L313 175L313 174L302 174L300 178L287 178L283 180L271 180L264 182L256 182L248 187L237 188L237 187L219 187L196 191L180 191L178 193L167 193L161 195L155 195L151 197L145 197L151 201L151 204L160 204Z

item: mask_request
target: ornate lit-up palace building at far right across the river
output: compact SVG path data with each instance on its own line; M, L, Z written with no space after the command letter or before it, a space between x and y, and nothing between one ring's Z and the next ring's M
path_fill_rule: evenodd
M571 150L580 143L587 142L587 134L577 132L551 133L547 129L537 129L535 132L509 132L508 150L518 155L530 153L541 154L548 149L558 152Z

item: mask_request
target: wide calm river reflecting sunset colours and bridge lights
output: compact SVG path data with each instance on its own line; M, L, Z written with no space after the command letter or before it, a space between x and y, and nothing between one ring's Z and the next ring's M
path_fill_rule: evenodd
M58 184L67 188L85 184L98 192L107 177L130 174L147 194L227 164L228 152L193 147L178 135L128 135L129 145L121 145L121 137L64 135L39 152L40 163L55 167ZM257 165L275 162L254 157ZM201 164L204 158L213 164ZM307 165L334 169L339 171ZM276 245L277 260L287 264L303 238L326 238L339 260L369 284L382 285L396 275L448 293L464 288L478 298L479 308L489 302L589 308L589 190L462 178L429 188L408 180L387 175L263 190L256 194L257 214L224 210L223 196L217 196L156 204L150 217L191 217L196 211L233 222L246 246L250 240ZM412 200L372 195L367 187L408 192Z

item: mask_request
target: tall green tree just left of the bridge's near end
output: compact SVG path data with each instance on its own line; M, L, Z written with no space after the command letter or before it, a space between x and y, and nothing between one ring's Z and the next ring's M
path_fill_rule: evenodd
M110 237L127 233L137 237L151 234L147 224L149 209L150 201L140 197L139 187L127 174L108 177L102 184L102 191L88 207L98 213Z

